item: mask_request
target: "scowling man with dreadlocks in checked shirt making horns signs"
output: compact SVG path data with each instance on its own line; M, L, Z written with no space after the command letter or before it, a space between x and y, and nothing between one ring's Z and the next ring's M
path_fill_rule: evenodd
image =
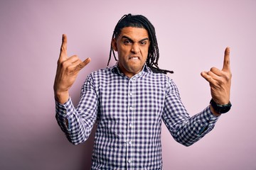
M174 81L159 69L154 26L144 16L123 16L114 28L110 59L113 67L90 74L75 108L68 94L80 69L90 62L68 57L67 37L58 60L54 92L56 119L74 145L85 142L97 123L92 169L162 169L161 120L177 142L192 145L213 129L230 104L230 50L223 69L201 75L210 84L210 106L190 117ZM109 59L109 62L110 62ZM116 59L117 60L117 59Z

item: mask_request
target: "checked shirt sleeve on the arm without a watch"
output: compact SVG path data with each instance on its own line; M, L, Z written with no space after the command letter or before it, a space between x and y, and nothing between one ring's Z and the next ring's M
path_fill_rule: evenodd
M82 86L77 108L73 106L71 98L64 104L55 101L55 118L60 129L74 145L88 139L97 118L97 94L91 76Z

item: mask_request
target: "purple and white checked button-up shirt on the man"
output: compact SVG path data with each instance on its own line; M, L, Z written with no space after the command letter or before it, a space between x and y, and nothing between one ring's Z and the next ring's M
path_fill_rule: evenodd
M92 72L75 108L56 102L56 119L74 145L85 142L97 123L92 169L162 169L161 123L189 146L213 129L218 117L207 106L190 117L174 81L144 66L125 77L117 64Z

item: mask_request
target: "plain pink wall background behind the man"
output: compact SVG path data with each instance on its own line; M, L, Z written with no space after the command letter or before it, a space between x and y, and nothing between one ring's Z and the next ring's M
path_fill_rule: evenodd
M200 72L222 68L225 47L231 47L232 111L191 147L176 143L163 125L164 169L256 169L254 0L1 0L0 169L90 169L93 134L73 146L55 121L61 35L68 35L69 55L92 58L70 91L78 103L87 74L106 67L112 31L125 13L154 24L159 66L175 71L169 76L191 115L210 101Z

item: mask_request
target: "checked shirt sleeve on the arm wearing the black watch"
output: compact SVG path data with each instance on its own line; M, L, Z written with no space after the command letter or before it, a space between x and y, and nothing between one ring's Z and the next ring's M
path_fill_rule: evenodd
M162 118L174 140L190 146L213 130L219 116L213 115L207 106L201 113L190 117L181 102L178 88L169 80Z

